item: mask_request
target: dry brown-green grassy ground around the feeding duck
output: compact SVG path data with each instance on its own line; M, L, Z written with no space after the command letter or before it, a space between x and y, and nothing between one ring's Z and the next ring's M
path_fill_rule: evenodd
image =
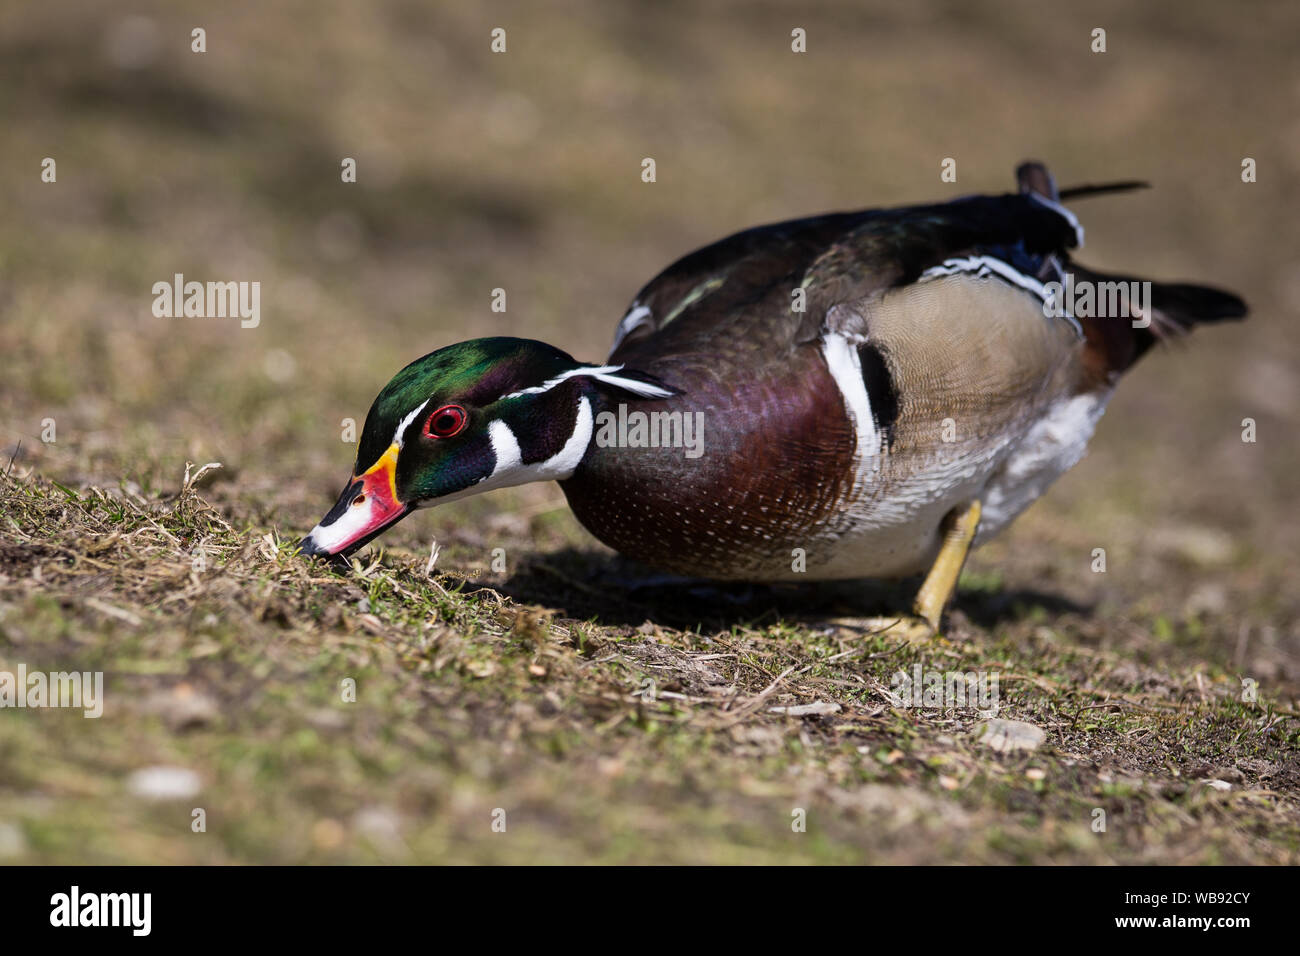
M100 719L0 710L0 860L1300 861L1300 16L1130 8L0 23L0 671L107 680ZM292 555L342 420L411 358L510 333L598 359L694 245L1004 190L1030 155L1156 182L1080 204L1084 261L1254 315L1135 371L941 637L889 626L915 583L658 580L554 486L421 514L348 574ZM260 281L261 325L153 317L176 272ZM182 490L187 462L224 467ZM1041 743L904 706L914 665L997 674ZM774 710L800 705L828 706Z

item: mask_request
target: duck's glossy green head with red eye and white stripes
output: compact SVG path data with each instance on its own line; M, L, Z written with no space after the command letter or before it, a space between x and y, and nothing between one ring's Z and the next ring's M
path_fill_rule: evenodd
M352 477L299 548L346 557L417 507L569 477L602 389L673 394L650 376L525 338L476 338L412 362L374 399Z

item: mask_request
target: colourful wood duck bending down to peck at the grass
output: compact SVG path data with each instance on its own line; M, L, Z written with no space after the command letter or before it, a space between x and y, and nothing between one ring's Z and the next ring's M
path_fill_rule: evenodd
M1152 345L1236 295L1075 263L1083 229L1019 191L792 220L679 259L603 364L542 342L430 352L370 406L354 476L303 538L348 555L419 507L559 481L593 535L658 568L753 581L928 571L937 628L972 545L1084 453ZM1082 290L1082 291L1080 291Z

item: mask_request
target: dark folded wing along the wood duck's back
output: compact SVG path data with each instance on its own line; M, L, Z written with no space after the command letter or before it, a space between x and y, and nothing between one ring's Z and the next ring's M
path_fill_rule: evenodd
M1040 282L1080 238L1071 213L1032 193L749 229L684 256L641 289L610 360L779 356L818 338L835 307L868 303L936 268Z

